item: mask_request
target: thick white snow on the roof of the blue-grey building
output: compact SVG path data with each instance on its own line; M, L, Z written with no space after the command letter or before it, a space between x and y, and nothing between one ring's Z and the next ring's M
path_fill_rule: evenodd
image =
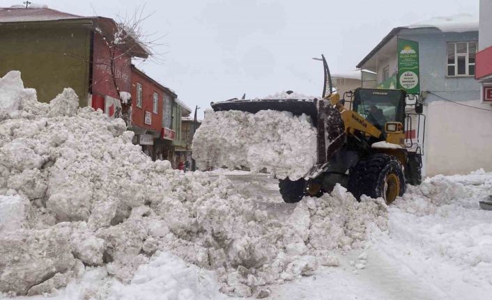
M469 13L460 13L447 17L432 17L408 26L409 29L437 28L443 32L478 31L478 17Z

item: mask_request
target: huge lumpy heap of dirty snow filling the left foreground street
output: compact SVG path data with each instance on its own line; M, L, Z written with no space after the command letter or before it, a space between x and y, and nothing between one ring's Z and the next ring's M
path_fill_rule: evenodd
M43 104L19 72L4 79L2 101L18 106L0 122L0 292L53 293L94 266L126 284L165 251L215 270L222 292L264 297L265 285L336 265L328 250L359 248L369 226L385 228L384 204L341 187L276 220L224 177L151 161L123 120L79 109L72 89Z

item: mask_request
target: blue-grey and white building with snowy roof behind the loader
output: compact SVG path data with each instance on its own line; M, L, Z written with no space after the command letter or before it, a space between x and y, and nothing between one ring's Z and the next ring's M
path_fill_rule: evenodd
M480 86L474 79L477 19L462 14L392 29L357 65L376 72L376 86L380 88L392 88L399 79L399 39L418 43L420 72L413 84L420 84L415 97L424 103L426 115L425 131L420 130L418 136L425 141L422 173L431 176L490 170L492 134L484 128L492 125L492 112L483 110Z

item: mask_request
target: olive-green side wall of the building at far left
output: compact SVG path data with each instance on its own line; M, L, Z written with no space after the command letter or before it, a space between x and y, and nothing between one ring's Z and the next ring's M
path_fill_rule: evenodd
M80 106L87 105L89 29L62 22L3 25L0 40L0 77L20 70L24 86L36 88L40 102L49 102L70 87Z

